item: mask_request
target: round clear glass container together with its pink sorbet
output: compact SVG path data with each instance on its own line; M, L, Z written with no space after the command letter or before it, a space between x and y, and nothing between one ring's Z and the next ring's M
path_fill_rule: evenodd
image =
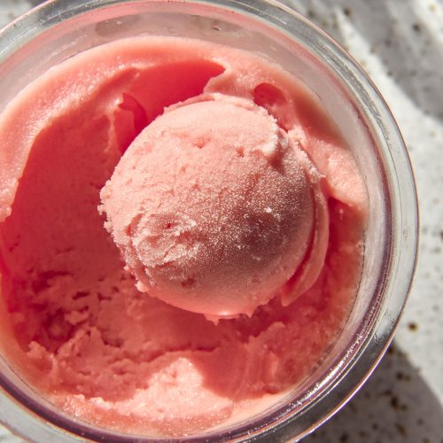
M417 225L354 60L273 1L50 1L0 39L4 423L284 441L345 404Z

